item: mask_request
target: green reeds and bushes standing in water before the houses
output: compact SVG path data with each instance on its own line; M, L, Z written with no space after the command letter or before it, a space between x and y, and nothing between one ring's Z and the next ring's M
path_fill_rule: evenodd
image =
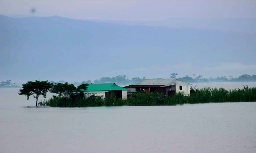
M115 96L104 100L99 96L88 98L74 95L66 100L66 106L153 106L153 105L182 105L195 103L215 102L256 102L256 87L244 86L242 89L226 90L224 88L190 88L190 96L184 96L182 92L169 97L157 92L133 92L127 100L117 99ZM65 100L60 96L42 101L40 105L65 106Z

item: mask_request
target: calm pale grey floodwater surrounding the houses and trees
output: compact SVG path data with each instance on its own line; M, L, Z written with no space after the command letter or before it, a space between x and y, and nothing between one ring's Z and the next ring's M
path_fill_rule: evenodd
M0 152L256 152L256 102L34 107L17 93L0 89Z

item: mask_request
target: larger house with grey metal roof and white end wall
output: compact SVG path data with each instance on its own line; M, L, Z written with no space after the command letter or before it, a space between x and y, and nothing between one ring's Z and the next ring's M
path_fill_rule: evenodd
M184 95L188 96L190 94L190 85L190 83L179 79L145 79L124 88L129 89L128 92L158 92L168 96L183 91Z

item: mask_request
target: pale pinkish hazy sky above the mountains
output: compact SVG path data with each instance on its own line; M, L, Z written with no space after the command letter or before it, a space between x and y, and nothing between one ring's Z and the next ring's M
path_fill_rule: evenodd
M111 20L255 18L256 0L0 0L0 14Z

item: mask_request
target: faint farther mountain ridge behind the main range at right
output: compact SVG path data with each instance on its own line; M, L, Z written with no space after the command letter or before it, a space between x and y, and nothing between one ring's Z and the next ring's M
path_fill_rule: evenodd
M223 32L256 34L256 18L169 18L163 21L87 20L119 23L130 26L154 26L169 28L197 28Z

